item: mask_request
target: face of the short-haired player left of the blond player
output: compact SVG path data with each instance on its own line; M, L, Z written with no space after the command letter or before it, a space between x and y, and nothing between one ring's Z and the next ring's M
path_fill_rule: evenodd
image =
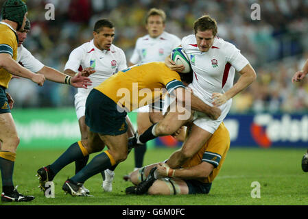
M93 32L94 44L100 50L108 50L115 38L115 28L102 27L99 32Z

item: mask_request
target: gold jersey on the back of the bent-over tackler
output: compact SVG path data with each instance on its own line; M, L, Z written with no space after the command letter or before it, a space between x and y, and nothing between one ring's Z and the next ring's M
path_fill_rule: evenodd
M94 89L132 111L179 87L185 88L176 71L170 70L163 62L149 62L121 70Z

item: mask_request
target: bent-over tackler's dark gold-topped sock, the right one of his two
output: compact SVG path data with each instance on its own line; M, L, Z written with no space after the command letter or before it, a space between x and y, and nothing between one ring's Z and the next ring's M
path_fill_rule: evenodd
M80 170L75 176L71 178L74 183L84 183L86 179L102 172L106 169L110 169L115 165L115 159L110 155L108 151L104 151L99 155L93 157L90 163L88 163L82 170Z

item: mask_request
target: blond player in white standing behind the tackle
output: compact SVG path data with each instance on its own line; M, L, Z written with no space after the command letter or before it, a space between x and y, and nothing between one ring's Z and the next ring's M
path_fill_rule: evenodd
M148 34L137 39L129 66L146 62L163 62L165 57L170 55L171 51L180 44L180 38L165 31L165 20L166 14L161 9L152 8L147 12L145 28ZM161 104L163 104L163 101ZM153 112L154 110L156 112ZM151 106L141 107L137 110L137 131L139 134L163 118L161 112L158 111L159 109ZM182 134L178 136L178 140L183 140L184 136L185 131L182 131ZM146 150L146 144L134 148L135 169L143 166Z

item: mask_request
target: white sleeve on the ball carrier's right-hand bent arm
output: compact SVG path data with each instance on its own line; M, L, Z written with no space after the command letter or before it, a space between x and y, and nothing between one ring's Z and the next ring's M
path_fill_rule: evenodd
M235 68L235 70L240 71L247 64L249 64L246 57L241 54L235 45L227 43L226 49L224 51L226 51L226 62L229 62Z

